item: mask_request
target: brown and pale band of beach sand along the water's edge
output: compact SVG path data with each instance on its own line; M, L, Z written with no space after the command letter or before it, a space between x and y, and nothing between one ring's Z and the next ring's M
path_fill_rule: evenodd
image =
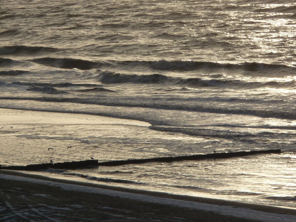
M276 216L280 217L281 221L290 221L290 219L296 219L296 210L287 207L258 205L203 197L168 194L163 192L153 192L147 190L136 190L124 187L49 178L46 176L27 174L11 170L0 170L1 184L5 184L5 180L14 180L15 185L18 186L20 186L20 184L22 183L30 183L34 185L37 184L37 186L44 185L50 187L66 187L66 189L70 189L72 192L86 192L91 194L96 193L97 195L103 194L116 198L123 198L124 200L128 199L150 204L157 203L163 206L166 205L169 208L172 205L175 207L177 205L177 207L180 207L180 209L182 210L202 210L205 212L213 211L224 216L237 216L239 218L245 218L250 221L254 219L259 221L269 221L271 220L271 218L275 218ZM258 217L258 219L256 219L254 215ZM268 215L270 215L271 218L266 219ZM260 219L260 217L262 217L262 220ZM276 220L279 220L280 218L277 218ZM231 220L228 219L228 221Z

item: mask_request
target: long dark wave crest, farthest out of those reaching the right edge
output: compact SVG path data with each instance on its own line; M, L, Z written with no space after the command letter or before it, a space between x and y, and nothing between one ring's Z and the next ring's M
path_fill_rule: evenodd
M8 46L4 46L8 47ZM17 46L20 47L20 46ZM27 46L28 47L28 46ZM30 50L57 50L55 48L33 48ZM260 62L244 62L239 64L233 63L219 63L219 62L207 62L207 61L168 61L168 60L158 60L158 61L115 61L110 60L108 62L93 62L83 59L73 59L73 58L37 58L30 60L31 62L39 63L42 65L59 67L65 69L77 68L81 70L89 70L92 68L100 67L148 67L153 70L180 70L180 71L190 71L190 70L243 70L250 72L281 72L283 71L285 75L295 72L296 67L282 65L282 64L268 64Z

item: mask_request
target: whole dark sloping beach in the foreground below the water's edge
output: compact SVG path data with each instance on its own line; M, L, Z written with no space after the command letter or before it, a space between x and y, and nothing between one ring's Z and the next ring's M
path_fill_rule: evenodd
M289 208L90 184L0 170L4 221L295 221Z

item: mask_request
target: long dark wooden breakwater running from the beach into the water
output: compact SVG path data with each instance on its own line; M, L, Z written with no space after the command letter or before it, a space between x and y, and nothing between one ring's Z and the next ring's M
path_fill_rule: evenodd
M155 157L147 159L129 159L129 160L112 160L107 162L98 162L98 160L81 160L63 163L41 163L31 164L26 166L3 166L2 170L41 170L45 168L54 169L74 169L87 166L118 166L125 164L140 164L147 162L173 162L180 160L203 160L203 159L218 159L218 158L231 158L243 157L256 154L268 153L281 153L280 149L267 149L267 150L253 150L253 151L239 151L239 152L225 152L225 153L210 153L210 154L197 154L187 156L172 156L172 157Z

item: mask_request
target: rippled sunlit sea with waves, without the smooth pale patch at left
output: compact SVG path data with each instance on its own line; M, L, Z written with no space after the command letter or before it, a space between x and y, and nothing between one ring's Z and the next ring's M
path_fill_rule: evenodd
M296 207L295 9L285 0L5 1L0 108L147 125L3 124L0 164L281 149L44 173Z

